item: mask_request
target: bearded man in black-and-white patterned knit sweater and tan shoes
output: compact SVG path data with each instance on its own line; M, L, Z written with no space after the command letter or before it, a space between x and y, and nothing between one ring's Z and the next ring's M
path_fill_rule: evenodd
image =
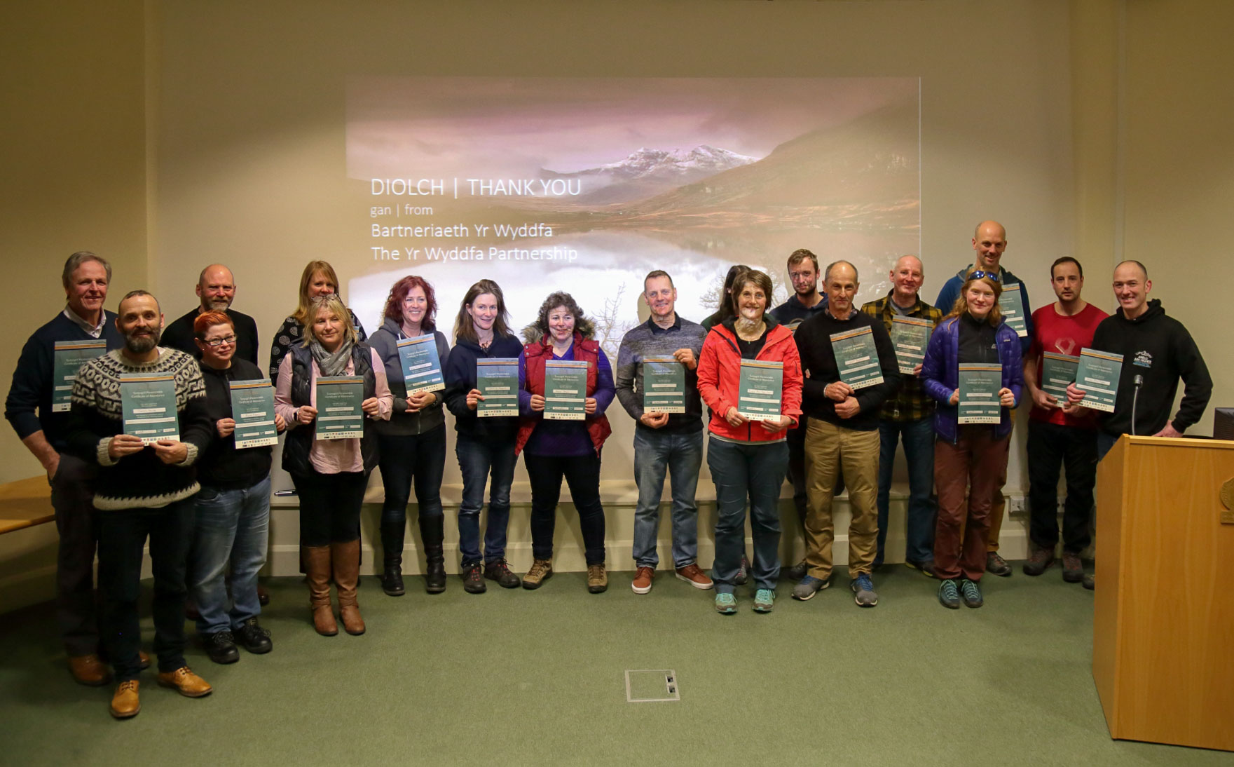
M137 676L141 626L142 546L149 536L154 571L154 652L158 682L183 695L207 695L211 687L184 662L184 568L197 492L194 462L210 442L206 387L193 357L159 348L163 315L158 301L133 290L121 301L116 329L125 346L86 363L73 384L69 450L99 466L94 505L99 510L101 634L116 676L111 715L141 710ZM180 440L123 434L120 382L125 373L163 373L175 382Z

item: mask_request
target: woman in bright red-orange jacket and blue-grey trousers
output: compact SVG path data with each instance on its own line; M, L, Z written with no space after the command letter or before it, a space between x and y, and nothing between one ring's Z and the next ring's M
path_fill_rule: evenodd
M733 284L733 316L711 329L698 359L698 393L711 409L707 467L716 482L716 610L737 611L734 579L745 548L745 500L754 532L754 609L770 613L780 577L780 485L789 463L786 430L801 416L801 358L792 333L766 314L771 278L749 270ZM770 363L770 364L763 364ZM738 411L742 367L782 366L779 413ZM768 396L766 399L772 399Z

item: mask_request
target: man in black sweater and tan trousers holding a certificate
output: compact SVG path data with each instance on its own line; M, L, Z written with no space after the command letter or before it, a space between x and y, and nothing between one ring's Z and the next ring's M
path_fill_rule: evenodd
M870 582L879 537L879 411L882 401L900 388L900 367L882 320L859 311L853 304L858 290L856 267L837 261L823 274L828 306L797 327L795 338L801 352L801 410L810 416L806 427L806 563L808 574L792 590L795 599L810 599L827 588L832 574L832 498L835 477L843 468L849 488L849 577L859 606L879 604ZM833 343L837 336L869 333L874 353L863 359L843 358L845 372L876 367L881 383L856 380L845 375Z

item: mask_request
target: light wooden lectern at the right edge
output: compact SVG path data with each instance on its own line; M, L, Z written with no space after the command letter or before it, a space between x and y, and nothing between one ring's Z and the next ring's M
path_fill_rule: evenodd
M1097 466L1092 677L1111 737L1234 751L1227 504L1234 442L1123 436Z

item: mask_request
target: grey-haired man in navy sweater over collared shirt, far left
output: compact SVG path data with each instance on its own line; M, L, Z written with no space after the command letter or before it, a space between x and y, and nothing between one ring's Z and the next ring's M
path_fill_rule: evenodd
M56 558L56 619L69 656L73 678L91 687L107 683L110 673L99 660L99 620L94 600L94 552L97 527L94 480L97 468L65 453L73 380L57 379L56 361L73 354L102 354L120 347L116 315L102 308L111 284L111 264L81 251L69 256L60 274L68 305L35 331L21 350L5 400L5 417L26 448L47 471L52 485L56 527L60 534ZM69 343L94 348L74 352ZM62 346L57 351L57 343ZM62 371L60 378L64 377ZM60 395L60 396L57 396ZM54 401L53 401L54 400ZM147 661L148 662L148 661Z

